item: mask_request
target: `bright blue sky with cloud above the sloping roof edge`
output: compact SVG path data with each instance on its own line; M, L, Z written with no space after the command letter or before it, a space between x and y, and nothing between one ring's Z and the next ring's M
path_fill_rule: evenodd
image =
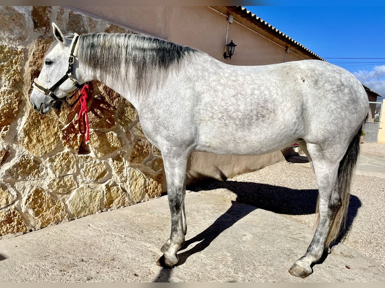
M382 6L243 7L325 60L349 70L385 98L385 2Z

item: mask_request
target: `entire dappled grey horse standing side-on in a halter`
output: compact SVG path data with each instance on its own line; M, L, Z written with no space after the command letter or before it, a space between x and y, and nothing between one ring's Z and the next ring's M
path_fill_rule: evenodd
M47 113L76 86L97 79L137 109L144 134L162 153L167 182L171 234L159 264L174 266L184 242L185 174L192 151L256 155L293 142L316 175L319 221L309 248L289 271L306 277L330 252L347 214L368 113L365 90L351 73L319 60L233 66L151 37L64 35L54 23L53 34L57 42L34 80L32 107Z

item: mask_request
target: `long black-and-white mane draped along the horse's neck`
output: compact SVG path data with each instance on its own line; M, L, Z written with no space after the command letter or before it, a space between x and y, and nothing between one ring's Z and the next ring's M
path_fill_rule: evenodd
M120 79L135 77L138 89L146 86L149 75L164 72L174 63L198 50L169 41L134 35L95 33L82 34L78 57L91 69ZM159 71L161 70L161 71ZM135 75L129 75L133 71Z

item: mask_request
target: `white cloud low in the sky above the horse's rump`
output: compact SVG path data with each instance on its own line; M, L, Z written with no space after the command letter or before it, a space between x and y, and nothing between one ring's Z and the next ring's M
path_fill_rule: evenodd
M374 66L371 71L359 70L353 74L362 84L385 97L385 65Z

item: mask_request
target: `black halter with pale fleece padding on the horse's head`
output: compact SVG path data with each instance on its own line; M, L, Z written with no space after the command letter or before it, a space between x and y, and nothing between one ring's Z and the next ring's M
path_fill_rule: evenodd
M34 88L36 88L37 90L39 90L40 92L44 93L45 95L51 97L53 100L56 100L56 101L64 101L66 99L66 97L64 98L58 98L54 91L65 81L67 80L68 78L71 79L72 81L72 84L74 86L76 86L78 89L80 89L81 87L83 87L84 84L79 84L72 76L72 65L74 63L74 60L75 60L75 57L77 56L77 50L79 48L79 35L78 34L74 34L73 38L72 38L72 42L71 42L71 46L69 47L69 59L68 59L68 70L67 72L65 72L65 75L63 77L61 77L61 79L59 81L57 81L51 88L48 88L47 86L45 86L44 84L40 83L37 78L35 78L33 80L33 83L32 83L32 86Z

